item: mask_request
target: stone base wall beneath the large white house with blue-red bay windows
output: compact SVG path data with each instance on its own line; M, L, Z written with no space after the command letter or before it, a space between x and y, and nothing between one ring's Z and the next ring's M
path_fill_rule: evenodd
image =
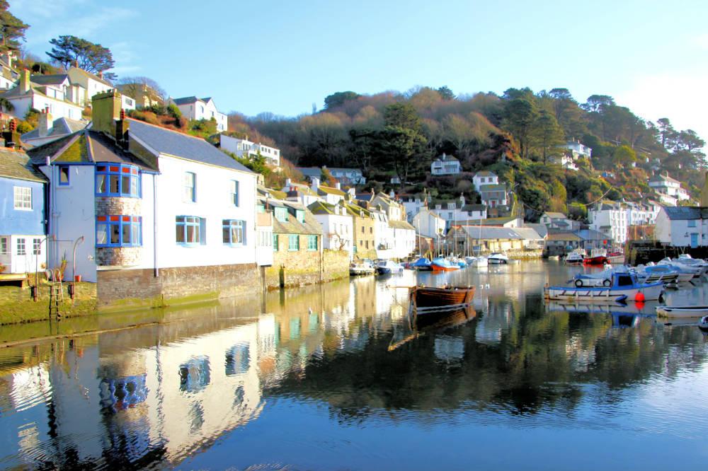
M125 310L195 303L261 292L256 264L101 270L98 310Z

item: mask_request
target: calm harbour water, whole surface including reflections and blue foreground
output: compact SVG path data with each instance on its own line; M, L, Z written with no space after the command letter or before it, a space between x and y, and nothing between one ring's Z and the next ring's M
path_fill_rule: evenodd
M0 349L0 467L704 470L708 337L656 303L544 301L581 269L406 271ZM416 326L416 282L473 284L474 310Z

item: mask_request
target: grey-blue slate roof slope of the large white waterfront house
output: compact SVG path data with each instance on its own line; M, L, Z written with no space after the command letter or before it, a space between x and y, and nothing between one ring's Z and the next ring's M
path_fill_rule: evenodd
M129 121L129 136L137 137L137 139L140 139L159 153L216 165L217 167L253 173L204 139L130 118Z

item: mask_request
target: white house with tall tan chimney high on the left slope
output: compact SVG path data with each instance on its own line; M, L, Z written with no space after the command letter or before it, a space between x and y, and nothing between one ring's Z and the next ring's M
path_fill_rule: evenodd
M0 97L13 105L13 110L8 114L21 120L32 108L45 110L57 118L81 120L84 107L72 101L72 93L77 89L69 83L66 74L30 76L30 71L25 69L20 74L18 85L1 93Z

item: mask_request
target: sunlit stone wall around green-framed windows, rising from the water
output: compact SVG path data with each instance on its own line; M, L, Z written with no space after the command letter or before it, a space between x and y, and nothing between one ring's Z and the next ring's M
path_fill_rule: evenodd
M299 236L300 250L291 251L287 250L287 235L279 236L273 266L265 269L268 289L324 283L349 276L349 254L345 250L307 250L307 236Z

